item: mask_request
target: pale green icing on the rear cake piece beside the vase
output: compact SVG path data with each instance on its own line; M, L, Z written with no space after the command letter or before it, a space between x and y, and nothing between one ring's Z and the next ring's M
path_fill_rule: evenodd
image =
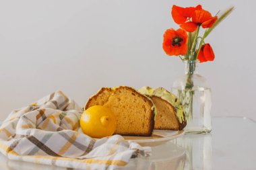
M139 93L142 93L143 95L156 95L157 97L161 97L162 99L168 101L170 103L176 112L177 118L179 119L179 122L182 124L185 121L184 113L183 113L183 107L181 104L181 101L178 99L178 97L166 89L159 87L159 88L151 88L151 87L141 87L141 89L138 90Z

